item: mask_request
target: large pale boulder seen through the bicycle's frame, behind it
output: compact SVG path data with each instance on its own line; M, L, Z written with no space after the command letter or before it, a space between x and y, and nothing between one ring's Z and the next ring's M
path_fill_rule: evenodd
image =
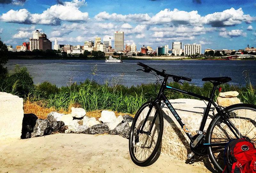
M204 101L187 98L173 99L169 101L180 116L182 122L186 124L188 130L192 135L196 135L196 130L199 129L206 108ZM186 160L188 153L191 152L189 147L190 140L168 107L162 103L161 108L164 115L164 132L161 153L174 156L180 160ZM204 130L207 130L212 121L214 115L213 109L214 107L212 106Z

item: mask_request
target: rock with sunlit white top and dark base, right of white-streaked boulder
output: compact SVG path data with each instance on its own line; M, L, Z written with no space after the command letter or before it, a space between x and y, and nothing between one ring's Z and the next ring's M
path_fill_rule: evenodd
M59 130L60 127L64 125L64 122L60 121L62 116L63 114L60 114L58 112L51 112L47 115L47 120L52 127L52 132Z

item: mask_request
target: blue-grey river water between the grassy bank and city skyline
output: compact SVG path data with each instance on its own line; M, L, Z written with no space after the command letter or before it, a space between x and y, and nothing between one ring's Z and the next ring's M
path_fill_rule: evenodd
M13 71L15 65L27 67L33 76L34 83L49 81L58 87L66 86L71 82L83 82L93 79L99 84L123 84L125 86L154 83L156 77L136 71L140 68L136 63L140 61L157 70L166 70L166 73L189 77L197 86L202 86L203 77L229 76L229 84L245 85L247 70L253 85L256 85L256 61L249 60L124 60L124 63L105 63L104 60L9 60L8 70ZM97 64L96 75L92 75L92 68Z

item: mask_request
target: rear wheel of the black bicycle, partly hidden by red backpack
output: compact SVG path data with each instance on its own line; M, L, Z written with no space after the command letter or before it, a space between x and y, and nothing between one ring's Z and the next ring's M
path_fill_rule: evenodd
M207 143L228 143L232 139L246 138L256 146L256 106L236 104L225 108L228 113L229 128L220 115L217 115L207 129ZM208 147L208 155L215 169L223 171L225 146Z

